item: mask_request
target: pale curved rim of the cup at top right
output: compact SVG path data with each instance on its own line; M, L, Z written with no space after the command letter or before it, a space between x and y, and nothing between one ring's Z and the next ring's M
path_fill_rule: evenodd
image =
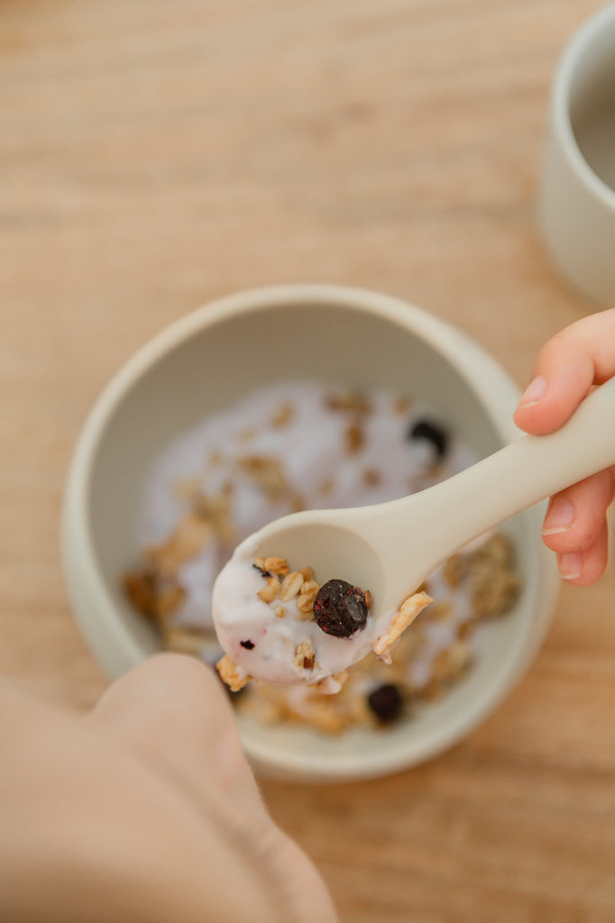
M551 120L555 136L561 141L561 148L568 157L573 170L580 177L588 191L601 204L615 212L615 190L604 182L585 160L574 136L570 118L570 94L576 67L591 48L597 34L606 26L613 27L615 47L615 3L609 3L585 19L564 48L558 63L551 95Z

